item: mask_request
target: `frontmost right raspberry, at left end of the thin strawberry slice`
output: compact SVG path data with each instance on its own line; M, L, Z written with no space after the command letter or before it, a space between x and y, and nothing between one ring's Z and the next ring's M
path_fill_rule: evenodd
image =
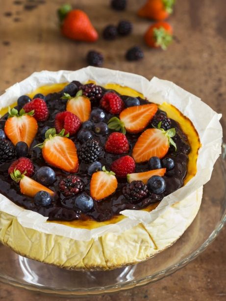
M135 167L135 161L130 156L121 157L111 164L111 170L119 178L125 178L127 174L134 173Z

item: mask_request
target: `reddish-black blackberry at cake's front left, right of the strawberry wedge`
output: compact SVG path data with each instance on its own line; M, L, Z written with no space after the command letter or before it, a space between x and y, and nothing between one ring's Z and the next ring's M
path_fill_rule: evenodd
M84 190L84 183L79 177L70 175L60 181L59 190L64 196L72 196Z

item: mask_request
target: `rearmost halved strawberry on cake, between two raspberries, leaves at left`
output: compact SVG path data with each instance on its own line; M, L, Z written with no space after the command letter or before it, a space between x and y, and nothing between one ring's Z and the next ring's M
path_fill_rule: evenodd
M82 95L82 90L79 90L75 97L64 93L63 99L68 99L66 110L78 116L78 118L85 122L89 120L91 113L91 102L89 98Z

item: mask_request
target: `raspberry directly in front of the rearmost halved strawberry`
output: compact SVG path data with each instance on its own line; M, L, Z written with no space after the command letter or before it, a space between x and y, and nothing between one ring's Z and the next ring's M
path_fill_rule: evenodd
M74 135L80 128L80 119L71 112L60 112L55 117L55 129L57 133L60 133L62 129L65 129L65 134L70 136Z

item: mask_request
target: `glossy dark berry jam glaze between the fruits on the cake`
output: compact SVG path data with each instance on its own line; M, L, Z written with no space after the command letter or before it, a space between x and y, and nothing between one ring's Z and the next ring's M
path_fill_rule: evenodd
M76 84L77 83L78 82L76 82ZM103 93L107 91L103 88L102 90ZM38 170L41 166L48 166L48 164L44 161L42 157L41 149L37 147L35 148L33 147L36 144L43 142L43 139L41 138L40 135L42 128L44 126L54 127L55 115L58 112L62 112L66 110L66 101L62 100L61 96L62 93L50 93L45 97L50 112L50 118L45 122L39 122L38 133L29 150L29 158L32 160L35 166L35 170ZM123 100L125 100L128 96L121 95L121 97ZM149 103L147 100L142 98L139 98L139 100L141 104ZM92 101L92 109L94 109L95 107L98 107L98 103ZM113 115L106 113L106 117L103 121L107 123L107 121L112 116ZM4 129L4 124L7 117L8 114L4 115L0 119L0 129ZM183 186L183 180L187 173L188 154L190 152L189 142L186 135L182 132L179 124L173 119L171 119L171 122L172 122L172 127L176 129L176 136L173 139L176 143L177 150L175 152L175 149L173 147L170 147L166 157L170 157L174 160L175 167L172 170L166 172L164 176L164 179L166 181L166 190L162 194L157 195L151 193L148 198L143 199L139 202L132 203L131 201L126 200L126 198L122 193L123 186L127 184L127 180L117 179L118 188L115 191L115 193L100 202L94 201L94 208L90 212L87 212L86 215L84 215L81 213L79 209L75 208L75 197L64 197L59 192L58 185L60 180L62 178L65 178L67 175L69 175L69 173L51 166L56 173L57 180L53 185L50 185L49 188L56 191L56 196L52 200L49 206L41 207L35 205L32 198L22 195L20 192L19 185L11 180L7 172L11 162L0 164L0 193L5 195L12 202L14 202L15 204L23 208L38 212L44 216L49 217L49 220L72 221L76 219L87 220L87 218L91 218L96 221L105 221L111 219L114 215L119 214L120 211L125 209L136 210L136 209L146 208L147 206L153 203L161 201L164 196L172 193L173 191ZM111 132L113 131L110 130L109 134ZM126 137L130 145L129 153L126 155L131 156L132 148L135 145L135 142L137 141L140 135L141 133L139 134L126 133ZM102 165L105 165L107 170L110 170L111 163L114 160L120 158L122 155L114 155L104 151L104 144L109 135L101 136L101 135L96 135L93 132L93 136L95 137L95 139L97 139L100 142L101 153L100 153L99 161L102 163ZM75 145L78 149L81 143L76 139L76 137L71 137L71 139L75 142ZM76 173L76 175L83 180L85 184L85 192L87 194L90 194L89 186L90 186L91 176L87 174L88 166L89 164L80 162L79 171ZM143 172L147 170L149 170L148 162L136 164L136 172Z

